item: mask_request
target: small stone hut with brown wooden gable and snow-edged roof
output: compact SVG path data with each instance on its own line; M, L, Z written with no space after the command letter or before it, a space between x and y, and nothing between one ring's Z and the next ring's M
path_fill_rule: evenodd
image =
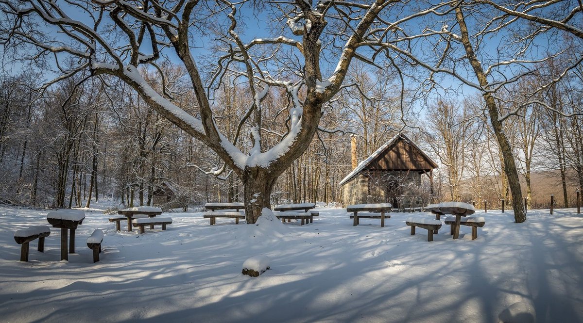
M399 205L399 200L403 200L400 197L408 193L408 188L420 187L424 174L429 176L433 193L433 169L436 168L436 162L405 134L399 133L340 181L342 204L392 203L394 207L403 207ZM407 207L423 203L416 201L409 201Z

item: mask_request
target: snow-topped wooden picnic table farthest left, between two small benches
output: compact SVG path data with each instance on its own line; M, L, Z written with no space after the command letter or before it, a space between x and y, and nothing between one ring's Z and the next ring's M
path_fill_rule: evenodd
M85 219L81 210L55 210L48 212L47 221L53 228L61 228L61 260L69 260L68 253L75 253L75 230ZM67 250L67 229L71 233Z

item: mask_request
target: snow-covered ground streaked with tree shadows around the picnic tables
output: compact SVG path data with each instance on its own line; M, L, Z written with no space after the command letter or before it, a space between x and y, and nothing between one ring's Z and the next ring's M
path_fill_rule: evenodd
M44 254L35 241L20 262L15 230L48 225L48 211L0 208L0 321L497 322L517 302L537 322L583 321L583 216L574 210L529 211L522 224L477 210L486 218L477 240L467 226L452 240L444 225L434 242L423 229L409 235L411 214L392 213L381 228L316 210L304 226L210 226L201 212L164 213L174 221L166 231L138 235L116 232L96 207L68 262L58 261L59 229ZM105 236L93 264L85 241L96 228ZM262 254L271 269L242 275Z

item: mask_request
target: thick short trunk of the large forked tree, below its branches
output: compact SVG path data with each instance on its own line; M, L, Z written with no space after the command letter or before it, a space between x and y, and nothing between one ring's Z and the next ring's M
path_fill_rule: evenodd
M241 178L245 203L245 219L248 224L257 222L264 208L271 209L271 191L279 173L264 168L246 169Z

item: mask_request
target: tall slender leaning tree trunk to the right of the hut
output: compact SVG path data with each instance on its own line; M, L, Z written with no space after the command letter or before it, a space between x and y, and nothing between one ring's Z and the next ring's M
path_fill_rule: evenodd
M466 52L466 58L472 65L477 80L484 89L487 90L489 87L488 80L484 70L482 69L482 64L478 61L476 53L473 51L472 43L470 42L468 27L466 26L465 19L463 17L462 8L458 6L455 9L456 19L459 23L459 29L461 31L462 44ZM514 209L514 222L522 223L526 221L526 212L524 210L524 203L522 202L522 190L520 187L520 181L518 178L518 171L516 164L514 163L514 154L512 153L512 147L504 129L502 128L502 122L498 120L498 107L494 97L489 91L484 91L482 94L484 100L486 101L486 108L488 109L490 115L490 123L494 129L494 134L498 140L498 145L500 146L500 151L504 159L504 172L508 178L508 186L510 186L510 192L512 194L512 208Z

